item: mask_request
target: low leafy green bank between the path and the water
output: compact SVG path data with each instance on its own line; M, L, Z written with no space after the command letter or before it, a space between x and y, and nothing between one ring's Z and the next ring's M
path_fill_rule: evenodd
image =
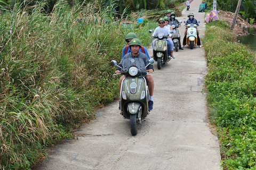
M205 90L217 126L224 169L256 169L255 56L236 43L222 21L206 24Z

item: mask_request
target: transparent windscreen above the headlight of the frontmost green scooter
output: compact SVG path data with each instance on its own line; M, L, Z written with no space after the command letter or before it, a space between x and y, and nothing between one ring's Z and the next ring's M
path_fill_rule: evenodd
M144 75L147 73L145 68L145 62L142 58L133 57L133 58L124 58L123 71L129 72L130 75L135 76L137 74Z

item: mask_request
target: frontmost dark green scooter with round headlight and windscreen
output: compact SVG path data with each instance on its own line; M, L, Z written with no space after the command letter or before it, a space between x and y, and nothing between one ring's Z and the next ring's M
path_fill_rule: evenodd
M149 64L153 63L153 59L149 60ZM115 60L111 61L110 64L118 66ZM118 73L126 76L121 85L120 106L123 118L130 120L132 135L137 135L137 124L141 123L141 120L145 120L149 114L149 91L146 81L147 66L145 66L141 58L126 58L123 61L121 73Z

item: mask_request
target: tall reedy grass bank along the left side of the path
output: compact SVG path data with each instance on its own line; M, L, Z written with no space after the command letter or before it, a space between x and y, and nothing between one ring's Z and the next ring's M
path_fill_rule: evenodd
M110 7L60 1L45 17L42 6L1 14L0 169L29 169L45 147L72 137L95 107L118 96L109 62L121 60L126 34L149 43L150 23L119 27Z

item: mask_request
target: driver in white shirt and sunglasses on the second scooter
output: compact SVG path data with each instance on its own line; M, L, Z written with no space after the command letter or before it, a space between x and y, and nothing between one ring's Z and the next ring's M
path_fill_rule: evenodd
M158 23L159 23L159 27L157 27L153 33L153 35L151 37L154 37L155 35L158 35L159 33L163 33L164 35L169 35L169 31L164 27L164 19L161 18L158 20ZM152 41L152 49L154 48L153 45L154 45L154 42L156 41L156 39L154 39ZM167 41L167 48L168 49L171 49L171 43L170 41ZM171 59L171 57L175 58L174 55L170 56L170 50L167 51L167 55L168 55L168 59Z

